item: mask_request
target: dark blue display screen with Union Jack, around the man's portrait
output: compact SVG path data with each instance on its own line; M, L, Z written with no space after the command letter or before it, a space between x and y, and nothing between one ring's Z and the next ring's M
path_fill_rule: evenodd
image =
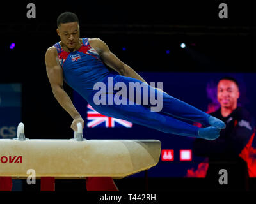
M249 110L253 117L256 115L255 73L141 72L139 74L148 84L163 82L164 92L207 113L214 112L220 107L216 99L218 80L226 76L236 78L240 91L238 106ZM205 177L208 167L207 157L198 157L193 154L195 138L163 133L156 129L132 124L129 121L105 117L93 110L77 92L74 92L73 97L74 105L85 119L83 134L87 140L160 140L162 143L161 157L157 166L148 170L148 176ZM256 147L254 148L256 150ZM253 163L256 163L256 154L253 155ZM143 172L132 175L132 177L143 176Z

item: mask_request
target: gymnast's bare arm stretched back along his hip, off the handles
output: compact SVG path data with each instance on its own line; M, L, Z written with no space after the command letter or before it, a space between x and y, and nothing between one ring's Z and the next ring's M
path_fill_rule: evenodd
M123 75L125 77L136 78L141 82L147 83L136 71L134 71L130 66L124 64L124 62L120 61L116 55L114 55L110 50L108 45L104 43L104 41L99 38L91 38L90 45L99 53L102 61L107 64L110 68L114 69L119 73L119 75Z

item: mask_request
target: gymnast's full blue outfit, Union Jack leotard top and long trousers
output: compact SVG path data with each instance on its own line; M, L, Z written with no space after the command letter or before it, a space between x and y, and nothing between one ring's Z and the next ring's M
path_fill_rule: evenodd
M154 128L165 133L182 136L198 137L199 128L179 119L188 119L209 126L209 115L207 113L164 92L161 112L152 112L149 106L138 104L115 105L114 103L113 105L96 105L93 101L93 94L97 91L93 90L93 85L97 82L104 82L108 85L108 77L113 77L114 84L116 82L124 82L127 87L129 82L139 82L140 84L143 82L135 78L111 73L101 61L99 54L90 46L88 38L83 38L82 42L79 50L74 52L63 50L60 43L56 43L54 47L56 47L58 52L65 82L81 94L97 112L109 117ZM148 85L148 88L156 93L158 91L150 85ZM116 92L109 93L107 89L106 95L115 95Z

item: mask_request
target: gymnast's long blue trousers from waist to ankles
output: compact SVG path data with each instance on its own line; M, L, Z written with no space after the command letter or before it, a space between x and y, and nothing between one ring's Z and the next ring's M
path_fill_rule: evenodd
M109 74L108 77L113 77L113 85L116 82L123 82L126 87L129 87L129 82L138 82L143 83L140 80L131 77L124 77L121 75ZM140 124L142 126L147 126L148 128L154 128L159 131L163 131L164 133L172 133L175 135L182 136L191 136L198 137L198 127L183 122L179 119L188 119L193 122L200 122L201 124L208 126L208 117L209 114L198 110L197 108L188 105L188 103L184 103L179 99L173 98L172 96L163 93L163 108L160 112L153 112L150 108L153 106L150 103L150 94L154 93L155 99L157 99L157 92L161 92L150 85L147 85L148 92L145 92L144 89L141 89L141 104L134 103L133 105L129 105L129 90L127 88L127 104L116 105L115 102L112 105L109 105L109 95L113 98L116 92L109 92L108 87L111 87L111 83L108 83L108 77L105 78L104 84L107 85L106 92L102 94L102 96L106 96L106 105L97 105L95 104L95 99L93 97L95 94L101 90L94 90L92 94L86 99L88 103L99 113L102 115L106 115L109 117L115 117L117 119L127 120L133 122L135 124ZM113 88L113 87L111 87ZM130 90L131 91L131 90ZM147 93L148 96L148 105L143 105L143 96ZM136 95L134 95L134 99L136 99ZM124 98L122 98L124 99ZM155 105L156 106L156 105ZM165 113L165 114L164 114Z

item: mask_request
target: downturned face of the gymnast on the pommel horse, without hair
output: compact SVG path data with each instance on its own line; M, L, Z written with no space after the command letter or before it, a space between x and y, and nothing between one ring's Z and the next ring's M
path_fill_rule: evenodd
M79 47L79 25L77 22L60 24L57 33L60 36L61 42L68 49L73 50Z

